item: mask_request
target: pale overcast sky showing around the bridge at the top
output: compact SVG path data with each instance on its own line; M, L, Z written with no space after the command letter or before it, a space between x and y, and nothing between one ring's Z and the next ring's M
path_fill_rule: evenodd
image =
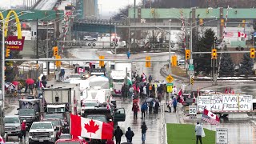
M136 0L136 2L141 2L141 0ZM98 0L99 13L103 16L110 16L118 12L119 8L127 5L132 5L134 0ZM0 0L0 6L5 8L10 8L15 5L22 5L23 0Z

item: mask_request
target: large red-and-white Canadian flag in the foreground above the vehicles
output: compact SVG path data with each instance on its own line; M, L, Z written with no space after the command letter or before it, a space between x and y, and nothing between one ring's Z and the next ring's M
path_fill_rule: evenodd
M93 139L113 138L114 126L109 123L82 118L74 114L70 114L70 120L70 134L73 138L78 138L78 136Z

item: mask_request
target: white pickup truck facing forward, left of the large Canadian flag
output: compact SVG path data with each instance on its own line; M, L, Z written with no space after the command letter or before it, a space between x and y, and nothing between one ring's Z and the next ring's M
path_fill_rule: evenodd
M29 143L54 143L55 131L52 122L33 122L29 131Z

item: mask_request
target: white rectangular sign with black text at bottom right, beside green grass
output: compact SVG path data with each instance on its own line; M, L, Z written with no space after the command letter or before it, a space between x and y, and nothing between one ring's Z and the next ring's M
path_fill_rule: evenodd
M228 130L226 128L216 128L216 144L228 144Z

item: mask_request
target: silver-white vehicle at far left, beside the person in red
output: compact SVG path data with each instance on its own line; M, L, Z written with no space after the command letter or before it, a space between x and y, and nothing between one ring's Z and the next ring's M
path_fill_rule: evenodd
M19 136L21 134L21 122L18 115L5 116L4 122L7 135Z

